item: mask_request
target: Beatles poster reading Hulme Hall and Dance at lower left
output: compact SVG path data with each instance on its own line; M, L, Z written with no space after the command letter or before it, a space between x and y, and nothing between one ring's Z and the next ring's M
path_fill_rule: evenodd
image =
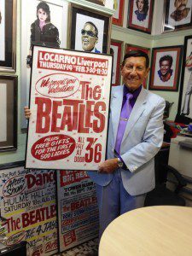
M1 216L7 219L7 246L27 241L27 256L57 252L55 171L0 171Z

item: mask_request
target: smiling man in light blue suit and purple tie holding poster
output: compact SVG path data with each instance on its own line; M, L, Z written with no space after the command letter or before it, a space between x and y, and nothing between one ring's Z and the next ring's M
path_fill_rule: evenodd
M89 172L96 183L100 237L114 218L143 207L146 193L154 189L154 155L163 141L165 100L143 89L148 63L143 51L125 54L124 84L112 88L108 160L98 172Z

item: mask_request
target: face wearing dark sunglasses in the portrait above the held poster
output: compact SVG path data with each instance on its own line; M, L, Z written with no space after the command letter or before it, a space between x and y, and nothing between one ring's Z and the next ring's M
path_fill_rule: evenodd
M96 38L96 30L95 27L91 24L87 23L84 25L84 28L81 31L81 40L82 40L82 48L85 51L91 51L94 49L95 44L98 39Z

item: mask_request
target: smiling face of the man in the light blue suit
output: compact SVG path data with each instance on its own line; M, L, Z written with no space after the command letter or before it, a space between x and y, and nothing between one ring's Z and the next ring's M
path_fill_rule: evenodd
M125 65L121 67L121 75L124 84L130 90L137 90L148 77L149 68L146 68L144 57L129 57L125 60Z

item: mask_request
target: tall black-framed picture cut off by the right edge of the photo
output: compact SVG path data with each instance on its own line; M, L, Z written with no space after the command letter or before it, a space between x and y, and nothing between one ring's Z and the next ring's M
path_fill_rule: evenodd
M179 90L177 113L183 116L183 119L192 121L192 101L191 101L191 76L192 76L192 36L184 38L183 47L183 66Z

